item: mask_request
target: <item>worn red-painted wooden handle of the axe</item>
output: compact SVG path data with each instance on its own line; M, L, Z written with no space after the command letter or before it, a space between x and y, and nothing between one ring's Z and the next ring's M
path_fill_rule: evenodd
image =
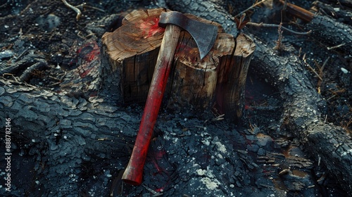
M166 26L137 139L134 143L130 162L122 175L122 180L128 184L139 185L142 183L146 153L148 152L156 117L158 117L158 111L163 100L163 94L166 83L168 82L170 67L179 37L180 27L176 25Z

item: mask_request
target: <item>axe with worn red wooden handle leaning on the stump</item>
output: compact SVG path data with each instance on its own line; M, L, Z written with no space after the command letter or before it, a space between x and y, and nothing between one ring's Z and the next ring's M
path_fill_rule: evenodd
M158 117L161 101L163 100L163 94L168 82L180 31L183 29L191 34L191 37L194 38L199 48L201 59L206 56L213 47L218 34L218 27L215 25L201 23L175 11L161 13L158 25L165 28L163 41L161 42L161 48L156 61L156 67L149 87L141 125L139 126L139 132L134 143L130 162L122 175L122 180L132 185L142 183L146 153L148 152L153 127L156 122L156 117Z

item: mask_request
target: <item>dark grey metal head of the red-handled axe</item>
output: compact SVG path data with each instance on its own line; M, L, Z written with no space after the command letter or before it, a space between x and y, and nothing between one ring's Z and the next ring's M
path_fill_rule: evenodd
M177 25L189 32L198 46L201 59L213 48L218 34L218 27L215 25L201 23L176 11L161 13L158 25L163 28L166 25Z

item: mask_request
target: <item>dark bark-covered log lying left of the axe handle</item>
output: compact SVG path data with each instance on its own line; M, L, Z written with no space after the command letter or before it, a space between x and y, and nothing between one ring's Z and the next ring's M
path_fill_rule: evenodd
M10 117L12 142L36 158L39 184L30 191L36 196L78 196L77 180L88 173L82 172L84 163L120 158L115 166L121 169L124 157L127 162L126 142L138 125L130 113L37 87L0 84L0 122Z

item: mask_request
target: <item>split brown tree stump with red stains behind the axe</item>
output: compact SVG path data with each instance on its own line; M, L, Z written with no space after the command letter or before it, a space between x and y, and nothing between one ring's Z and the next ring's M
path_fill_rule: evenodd
M122 103L146 101L164 29L158 27L159 15L167 11L156 8L133 11L114 32L103 34L103 54L111 70L120 73ZM165 106L179 112L182 108L198 111L215 107L219 114L239 120L244 108L244 84L255 49L245 34L234 38L220 24L186 14L187 17L218 26L213 49L202 60L191 35L180 34L172 74L165 92Z

